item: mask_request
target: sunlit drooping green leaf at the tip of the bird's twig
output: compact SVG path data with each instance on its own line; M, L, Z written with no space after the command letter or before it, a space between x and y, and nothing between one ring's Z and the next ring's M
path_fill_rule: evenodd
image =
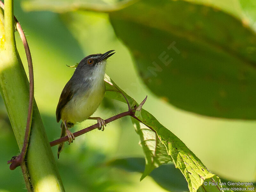
M122 99L124 95L127 98L128 102L132 104L132 107L135 105L138 106L138 103L130 96L128 96L124 91L122 91L107 75L105 76L105 85L106 97L126 102L124 98ZM141 117L137 118L141 123L146 125L148 128L150 128L153 132L157 134L156 139L159 140L165 146L167 154L171 156L172 161L175 164L175 167L180 169L182 174L185 176L188 182L188 188L190 192L196 192L197 189L200 186L202 186L204 180L210 179L215 176L206 169L204 164L196 157L196 155L192 151L190 151L187 148L187 146L177 136L175 136L171 131L169 131L162 124L160 124L154 116L148 113L148 111L142 108ZM145 133L148 134L148 132ZM140 132L141 143L143 143L145 138L147 138L147 135L143 135L145 133ZM151 143L149 145L149 148L151 149L152 146L153 144ZM146 161L148 162L148 154L150 153L148 153L147 151L148 148L143 149L146 156ZM154 156L156 156L156 154ZM161 155L161 158L160 156L156 157L156 159L158 158L157 160L154 160L153 157L153 163L149 164L151 164L151 166L159 166L164 162L166 163L166 157L164 156L164 158L162 159L163 156ZM150 172L151 167L147 165L146 168L147 170L145 170L145 175ZM143 177L145 175L143 175ZM208 187L209 186L205 186L204 188L207 189Z

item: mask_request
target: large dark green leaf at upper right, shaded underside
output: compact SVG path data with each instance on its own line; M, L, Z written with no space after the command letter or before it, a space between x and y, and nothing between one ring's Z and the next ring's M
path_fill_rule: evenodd
M109 16L156 95L206 116L256 118L256 36L241 20L171 0L138 1Z

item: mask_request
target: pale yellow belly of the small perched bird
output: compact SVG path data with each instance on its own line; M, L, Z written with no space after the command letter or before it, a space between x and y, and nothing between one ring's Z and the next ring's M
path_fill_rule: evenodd
M88 119L99 107L105 94L105 84L85 95L73 98L61 110L61 119L76 124Z

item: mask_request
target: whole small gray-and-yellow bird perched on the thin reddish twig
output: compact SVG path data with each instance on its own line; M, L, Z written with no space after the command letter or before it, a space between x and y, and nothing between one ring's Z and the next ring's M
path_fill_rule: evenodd
M115 50L104 54L88 55L77 65L73 76L63 88L56 109L57 122L61 122L60 137L68 136L68 144L75 137L68 128L86 119L94 119L100 124L99 130L104 130L106 123L100 117L90 117L99 107L105 95L104 75L107 59L113 55ZM58 158L63 150L64 144L58 147Z

